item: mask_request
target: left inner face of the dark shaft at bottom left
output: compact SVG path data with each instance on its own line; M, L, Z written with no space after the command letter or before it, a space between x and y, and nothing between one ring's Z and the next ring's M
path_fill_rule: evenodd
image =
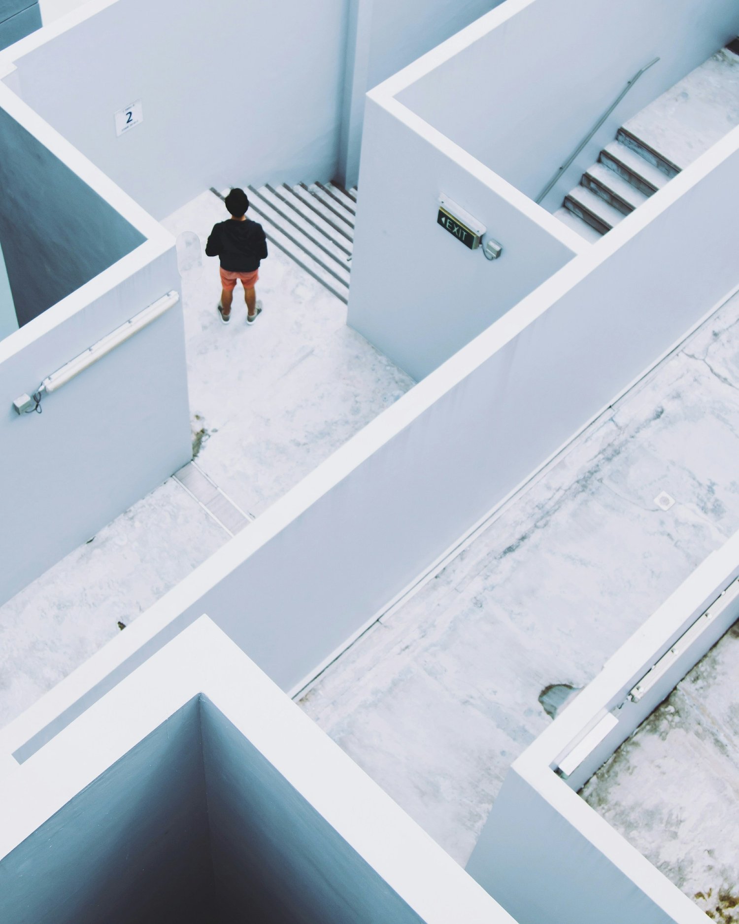
M197 699L0 862L4 924L201 924L211 906Z

